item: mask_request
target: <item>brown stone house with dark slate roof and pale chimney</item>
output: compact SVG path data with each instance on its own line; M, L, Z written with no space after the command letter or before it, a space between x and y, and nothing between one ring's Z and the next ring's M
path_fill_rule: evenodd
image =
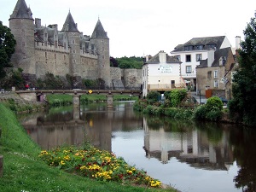
M202 96L230 99L232 74L236 69L235 55L230 47L207 50L207 59L196 67L198 90Z

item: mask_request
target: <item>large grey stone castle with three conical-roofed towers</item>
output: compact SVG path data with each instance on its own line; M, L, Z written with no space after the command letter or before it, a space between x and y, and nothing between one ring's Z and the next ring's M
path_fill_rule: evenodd
M18 0L9 18L9 28L16 39L11 62L22 68L28 79L44 78L46 73L81 79L102 79L112 87L109 61L109 38L100 20L91 36L79 32L70 11L61 29L58 25L41 26L32 18L25 0Z

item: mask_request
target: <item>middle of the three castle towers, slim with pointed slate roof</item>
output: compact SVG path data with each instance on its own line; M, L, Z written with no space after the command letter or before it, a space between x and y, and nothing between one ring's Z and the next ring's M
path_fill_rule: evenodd
M67 19L63 25L61 32L66 32L68 45L70 47L70 75L75 78L79 77L80 79L80 32L70 12L67 15Z

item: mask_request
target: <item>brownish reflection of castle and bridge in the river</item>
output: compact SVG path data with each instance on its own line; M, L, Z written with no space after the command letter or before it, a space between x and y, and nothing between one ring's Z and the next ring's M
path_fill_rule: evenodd
M22 121L32 139L43 149L63 144L79 145L84 138L94 146L111 151L112 131L129 130L142 126L142 119L131 115L132 104L119 104L115 108L79 108L61 113L38 113Z

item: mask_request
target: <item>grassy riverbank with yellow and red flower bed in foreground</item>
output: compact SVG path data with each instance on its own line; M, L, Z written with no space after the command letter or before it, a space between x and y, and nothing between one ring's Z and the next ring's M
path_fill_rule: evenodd
M0 111L0 154L4 159L0 191L176 191L154 188L160 187L158 180L88 144L41 151L14 112L1 102ZM115 179L107 176L109 167Z

